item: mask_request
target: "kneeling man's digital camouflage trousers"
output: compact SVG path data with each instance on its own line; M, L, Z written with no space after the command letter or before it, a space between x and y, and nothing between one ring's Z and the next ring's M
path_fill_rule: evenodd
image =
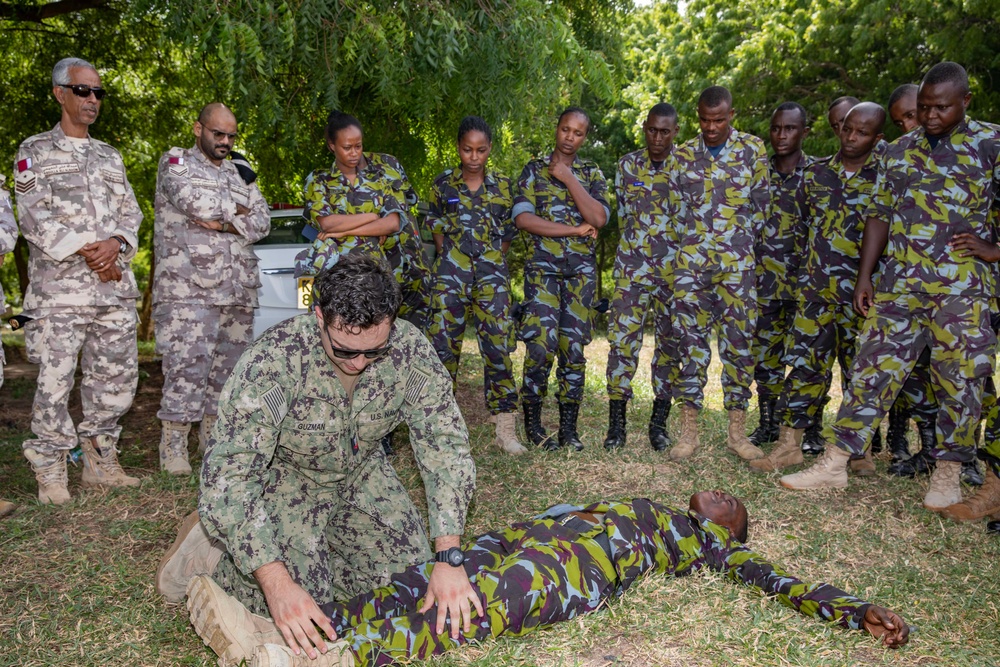
M314 600L347 600L384 586L394 572L431 558L424 520L381 447L332 488L286 475L267 492L280 560ZM365 450L362 450L365 451ZM212 575L257 614L269 615L252 573L227 554Z

